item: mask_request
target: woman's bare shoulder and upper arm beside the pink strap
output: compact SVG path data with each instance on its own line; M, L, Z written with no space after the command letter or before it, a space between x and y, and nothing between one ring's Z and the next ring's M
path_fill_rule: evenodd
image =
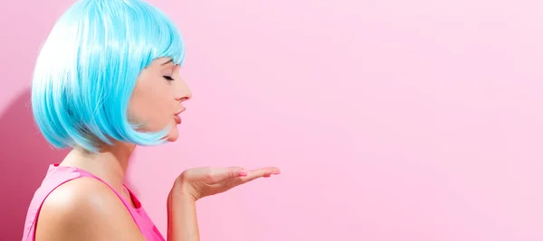
M81 177L43 201L36 240L144 240L118 196L101 181Z

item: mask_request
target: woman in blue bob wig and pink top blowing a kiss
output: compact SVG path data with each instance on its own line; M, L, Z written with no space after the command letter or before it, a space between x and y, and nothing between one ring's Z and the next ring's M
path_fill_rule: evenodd
M178 137L185 47L172 21L142 0L81 0L55 23L33 76L35 122L71 148L35 192L23 240L165 240L125 187L137 145ZM199 240L195 201L277 168L183 171L167 198L167 240Z

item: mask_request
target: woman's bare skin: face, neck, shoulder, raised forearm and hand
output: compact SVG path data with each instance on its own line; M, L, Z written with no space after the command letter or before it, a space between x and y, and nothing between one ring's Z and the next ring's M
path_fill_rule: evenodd
M176 127L180 124L179 114L185 110L182 104L191 97L192 93L179 77L178 67L167 58L157 59L138 78L130 99L129 116L146 123L148 131L173 124L168 141L174 142L179 135ZM134 144L116 143L104 146L98 154L74 148L61 165L89 171L110 184L123 199L130 200L123 183L135 148ZM195 209L198 199L279 173L275 167L252 171L240 167L203 167L183 171L172 184L166 200L167 240L200 240ZM108 186L95 179L80 178L62 184L45 199L35 240L143 241L145 238L122 201Z

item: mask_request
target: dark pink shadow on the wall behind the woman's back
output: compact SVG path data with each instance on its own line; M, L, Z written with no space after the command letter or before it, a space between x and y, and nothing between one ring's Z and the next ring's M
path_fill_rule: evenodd
M0 116L0 229L2 240L21 240L26 210L49 164L61 162L57 151L33 122L30 89L14 99Z

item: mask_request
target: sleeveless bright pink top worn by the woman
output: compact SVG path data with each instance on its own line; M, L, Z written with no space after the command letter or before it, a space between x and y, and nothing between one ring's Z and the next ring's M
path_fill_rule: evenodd
M43 179L42 186L40 186L40 188L34 193L32 202L30 203L30 207L28 208L28 213L26 214L26 221L24 222L23 241L34 241L34 234L36 229L35 223L38 219L38 214L40 213L40 209L42 208L43 201L47 198L47 196L49 196L52 190L56 189L67 181L71 181L81 177L90 177L98 181L102 181L100 178L90 174L90 172L83 171L81 169L59 166L59 164L53 164L49 167L47 175ZM104 182L106 185L108 185L108 187L110 187L111 190L113 190L108 183L106 183L105 181L102 182ZM127 188L127 190L129 189ZM122 203L124 203L125 207L129 210L130 215L134 219L136 225L138 225L139 230L146 238L146 240L165 241L164 237L160 234L160 232L158 232L157 227L155 227L155 225L153 224L151 218L148 217L145 210L141 207L141 203L138 201L138 199L136 199L136 196L134 196L134 194L130 190L130 198L132 199L134 206L136 206L136 209L132 207L129 201L122 199L117 191L113 191L115 192L115 194L117 194L119 199L122 200Z

